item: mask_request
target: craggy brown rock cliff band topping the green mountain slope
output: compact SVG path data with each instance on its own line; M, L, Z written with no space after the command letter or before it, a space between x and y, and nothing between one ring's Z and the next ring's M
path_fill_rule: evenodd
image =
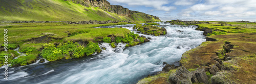
M138 11L131 11L127 8L123 8L122 6L118 5L110 5L110 3L106 0L72 0L72 2L76 4L81 4L86 7L98 7L104 11L108 11L111 13L116 13L121 16L126 16L131 18L132 20L154 20L160 21L157 16L148 15Z

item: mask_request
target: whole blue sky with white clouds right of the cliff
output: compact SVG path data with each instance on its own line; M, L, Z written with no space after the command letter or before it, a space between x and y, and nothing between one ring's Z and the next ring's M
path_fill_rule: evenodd
M256 0L108 0L166 20L256 21Z

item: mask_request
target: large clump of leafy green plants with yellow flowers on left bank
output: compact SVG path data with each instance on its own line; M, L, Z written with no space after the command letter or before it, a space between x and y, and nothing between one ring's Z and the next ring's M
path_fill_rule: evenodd
M98 53L101 52L96 43L89 43L87 47L83 47L77 43L68 41L67 43L59 44L57 47L55 47L55 44L51 43L45 44L44 47L45 49L42 50L41 56L48 61L60 60L62 58L69 59L71 57L79 58L84 56L84 54L89 56L96 51Z

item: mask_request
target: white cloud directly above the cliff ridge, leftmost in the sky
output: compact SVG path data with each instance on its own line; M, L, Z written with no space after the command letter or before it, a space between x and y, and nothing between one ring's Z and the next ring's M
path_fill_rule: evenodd
M122 3L122 4L127 4L129 6L145 6L145 7L153 7L155 10L158 11L170 11L170 10L175 10L176 7L174 6L164 6L168 5L169 2L167 0L159 0L159 1L154 1L154 0L110 0L111 2L115 3Z

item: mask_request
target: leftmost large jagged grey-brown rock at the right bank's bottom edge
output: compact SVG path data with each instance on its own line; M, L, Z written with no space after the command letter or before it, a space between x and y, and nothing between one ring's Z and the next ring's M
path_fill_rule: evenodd
M168 81L172 84L176 83L192 83L190 78L192 78L191 72L189 72L185 67L179 67L175 73L170 74Z

